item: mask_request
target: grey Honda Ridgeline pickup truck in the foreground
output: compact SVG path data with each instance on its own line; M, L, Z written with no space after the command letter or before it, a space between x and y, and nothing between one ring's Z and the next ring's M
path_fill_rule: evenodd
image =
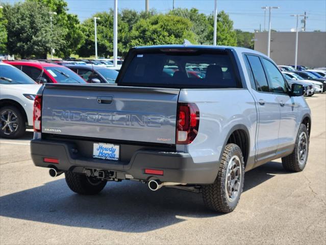
M303 86L239 47L132 48L115 85L46 84L34 105L31 154L69 188L96 194L133 180L201 192L231 212L244 173L282 158L306 165L311 129Z

